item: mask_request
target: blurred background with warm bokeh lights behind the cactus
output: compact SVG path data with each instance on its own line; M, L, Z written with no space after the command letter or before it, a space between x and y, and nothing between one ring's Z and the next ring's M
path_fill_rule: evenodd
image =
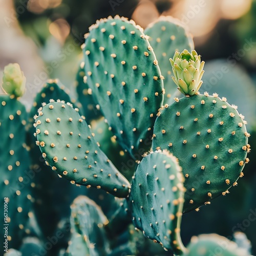
M19 63L27 77L22 101L28 110L48 78L59 78L75 96L83 34L96 19L119 14L146 28L160 15L179 18L206 61L201 93L217 92L238 105L249 123L252 148L239 186L186 214L182 237L187 243L193 235L216 232L232 239L233 232L243 231L256 254L255 0L0 0L0 6L0 78L5 65Z

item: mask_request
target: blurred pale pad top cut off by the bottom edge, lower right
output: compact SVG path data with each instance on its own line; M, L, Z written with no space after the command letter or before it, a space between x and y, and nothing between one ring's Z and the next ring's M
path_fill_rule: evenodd
M200 234L192 237L187 247L187 252L183 256L250 256L245 249L225 237L218 234Z

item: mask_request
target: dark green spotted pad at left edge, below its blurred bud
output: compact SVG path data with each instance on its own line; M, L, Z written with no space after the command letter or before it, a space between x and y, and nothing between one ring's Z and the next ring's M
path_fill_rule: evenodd
M25 143L26 120L27 113L22 103L9 95L0 96L0 195L3 204L0 242L3 244L8 239L9 248L15 249L26 236L26 231L29 232L26 225L31 214L30 175L33 172L29 168ZM8 237L5 238L6 227Z

